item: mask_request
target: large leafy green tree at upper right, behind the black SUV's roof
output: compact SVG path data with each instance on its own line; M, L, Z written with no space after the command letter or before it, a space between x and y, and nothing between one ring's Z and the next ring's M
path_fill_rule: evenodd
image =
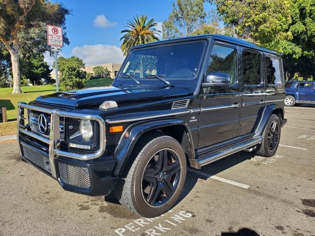
M314 0L209 0L243 39L284 53L284 70L315 78Z

